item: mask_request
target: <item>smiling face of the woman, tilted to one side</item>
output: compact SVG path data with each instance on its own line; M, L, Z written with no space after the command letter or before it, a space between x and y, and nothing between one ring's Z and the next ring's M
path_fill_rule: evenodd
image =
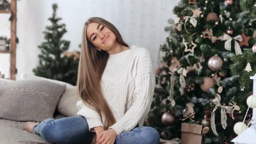
M111 49L115 43L115 34L100 23L92 22L86 31L87 39L97 48L104 51Z

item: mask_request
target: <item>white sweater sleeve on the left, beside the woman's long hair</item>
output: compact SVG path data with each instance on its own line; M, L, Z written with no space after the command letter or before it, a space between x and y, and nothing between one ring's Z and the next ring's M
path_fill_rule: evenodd
M98 114L97 111L85 105L82 102L82 100L77 101L76 106L79 110L77 112L77 115L82 115L83 117L85 117L89 126L89 131L95 132L93 129L94 127L99 127L99 126L104 127L102 124L100 115Z

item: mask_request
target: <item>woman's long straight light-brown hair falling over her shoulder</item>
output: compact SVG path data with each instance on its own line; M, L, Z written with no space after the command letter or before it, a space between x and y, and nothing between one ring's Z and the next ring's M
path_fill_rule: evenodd
M128 46L118 32L118 29L107 20L100 17L91 17L85 22L82 31L81 54L77 76L77 94L82 99L83 103L98 112L102 120L104 114L105 122L104 129L115 124L115 118L111 109L108 106L102 94L100 81L108 61L108 52L99 52L96 47L87 39L86 29L92 22L101 23L108 27L116 36L116 41L123 46ZM91 144L96 143L96 134L92 139Z

